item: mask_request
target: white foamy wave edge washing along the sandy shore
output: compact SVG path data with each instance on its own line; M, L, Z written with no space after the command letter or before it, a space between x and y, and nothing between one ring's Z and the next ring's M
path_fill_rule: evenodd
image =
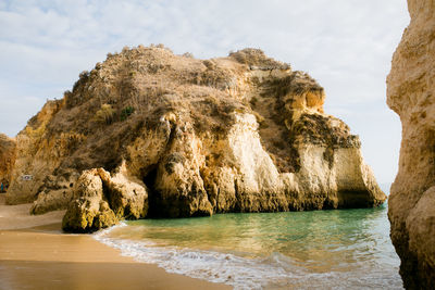
M120 224L94 237L135 261L157 264L169 273L226 283L235 289L383 289L386 285L401 288L395 279L385 279L382 270L375 275L368 273L364 278L349 277L348 273L339 272L313 273L279 253L265 259L247 259L232 253L157 247L151 241L108 237L112 230L125 226Z

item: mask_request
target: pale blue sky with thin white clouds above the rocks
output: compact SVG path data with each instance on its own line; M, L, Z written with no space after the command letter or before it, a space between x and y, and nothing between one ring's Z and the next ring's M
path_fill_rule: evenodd
M0 0L0 133L15 136L125 46L198 59L260 48L325 88L325 112L360 136L365 162L389 184L401 125L385 78L408 23L406 0Z

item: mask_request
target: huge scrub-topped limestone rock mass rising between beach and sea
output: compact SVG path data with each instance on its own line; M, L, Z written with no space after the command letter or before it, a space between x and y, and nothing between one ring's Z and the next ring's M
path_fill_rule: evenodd
M18 134L8 201L67 206L73 231L123 217L381 204L358 136L324 100L308 74L260 50L197 60L125 48Z

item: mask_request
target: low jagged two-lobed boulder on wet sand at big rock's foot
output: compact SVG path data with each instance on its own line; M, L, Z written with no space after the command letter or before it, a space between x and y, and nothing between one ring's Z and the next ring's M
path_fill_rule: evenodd
M144 218L148 194L140 180L126 175L125 167L114 176L103 168L83 172L63 217L65 231L89 232L115 225L122 218Z

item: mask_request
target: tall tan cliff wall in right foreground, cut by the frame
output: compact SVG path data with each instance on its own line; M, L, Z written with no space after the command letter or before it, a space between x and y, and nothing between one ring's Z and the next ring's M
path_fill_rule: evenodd
M391 240L408 289L435 287L435 1L408 0L387 78L387 103L402 124L399 172L388 199Z

